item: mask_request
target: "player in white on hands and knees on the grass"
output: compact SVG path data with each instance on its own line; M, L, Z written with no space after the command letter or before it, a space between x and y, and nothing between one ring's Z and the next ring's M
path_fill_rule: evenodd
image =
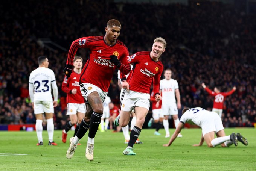
M229 147L232 144L237 146L238 141L242 142L244 145L248 145L247 139L242 137L240 133L232 133L231 135L226 136L221 118L215 112L207 111L201 107L191 109L187 107L182 110L182 114L180 123L178 124L178 127L172 135L169 143L163 144L163 146L170 146L172 144L185 123L195 124L202 128L203 134L201 140L199 144L195 144L193 146L201 146L204 141L208 147L215 147L220 144L222 147ZM214 138L214 133L216 133L217 138Z

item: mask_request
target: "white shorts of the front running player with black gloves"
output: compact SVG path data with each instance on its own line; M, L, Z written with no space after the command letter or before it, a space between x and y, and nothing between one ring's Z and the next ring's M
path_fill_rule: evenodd
M80 91L82 93L82 96L87 100L87 96L94 91L97 91L99 94L99 97L101 98L102 103L105 100L105 97L107 96L108 92L102 91L99 87L96 85L90 84L90 83L82 83L80 84Z

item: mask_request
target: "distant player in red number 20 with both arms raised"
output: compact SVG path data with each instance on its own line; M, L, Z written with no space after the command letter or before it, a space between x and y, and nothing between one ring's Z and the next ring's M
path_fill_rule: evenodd
M202 83L202 87L212 96L215 97L213 102L213 108L212 111L218 113L219 117L222 117L222 111L223 111L223 102L225 100L225 97L232 94L236 91L236 87L233 87L233 89L229 92L221 92L219 88L215 87L214 91L211 91L204 83Z

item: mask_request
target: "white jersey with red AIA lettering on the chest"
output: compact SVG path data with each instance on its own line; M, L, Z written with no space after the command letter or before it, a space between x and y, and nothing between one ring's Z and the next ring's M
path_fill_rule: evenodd
M162 90L162 103L176 102L175 89L178 89L179 85L177 80L163 79L160 81L160 90Z

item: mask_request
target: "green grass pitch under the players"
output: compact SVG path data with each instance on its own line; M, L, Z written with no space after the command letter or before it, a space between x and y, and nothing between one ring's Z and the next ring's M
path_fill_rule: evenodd
M125 156L127 144L124 144L123 133L97 132L95 137L94 160L85 157L85 145L88 133L81 139L72 159L66 159L69 139L61 141L61 130L55 130L53 140L57 146L48 145L47 131L43 131L43 146L37 146L36 132L0 132L0 170L1 171L143 171L143 170L182 170L182 171L235 171L256 170L256 129L225 129L226 135L240 132L247 138L248 146L238 142L238 146L223 148L218 145L208 148L204 142L198 144L201 129L183 129L182 138L177 138L170 147L163 147L169 138L165 130L160 129L160 136L154 136L154 129L142 129L140 141L135 144L136 156ZM172 134L174 129L170 129ZM73 135L69 131L68 138ZM16 154L16 155L15 155ZM17 155L27 154L27 155Z

